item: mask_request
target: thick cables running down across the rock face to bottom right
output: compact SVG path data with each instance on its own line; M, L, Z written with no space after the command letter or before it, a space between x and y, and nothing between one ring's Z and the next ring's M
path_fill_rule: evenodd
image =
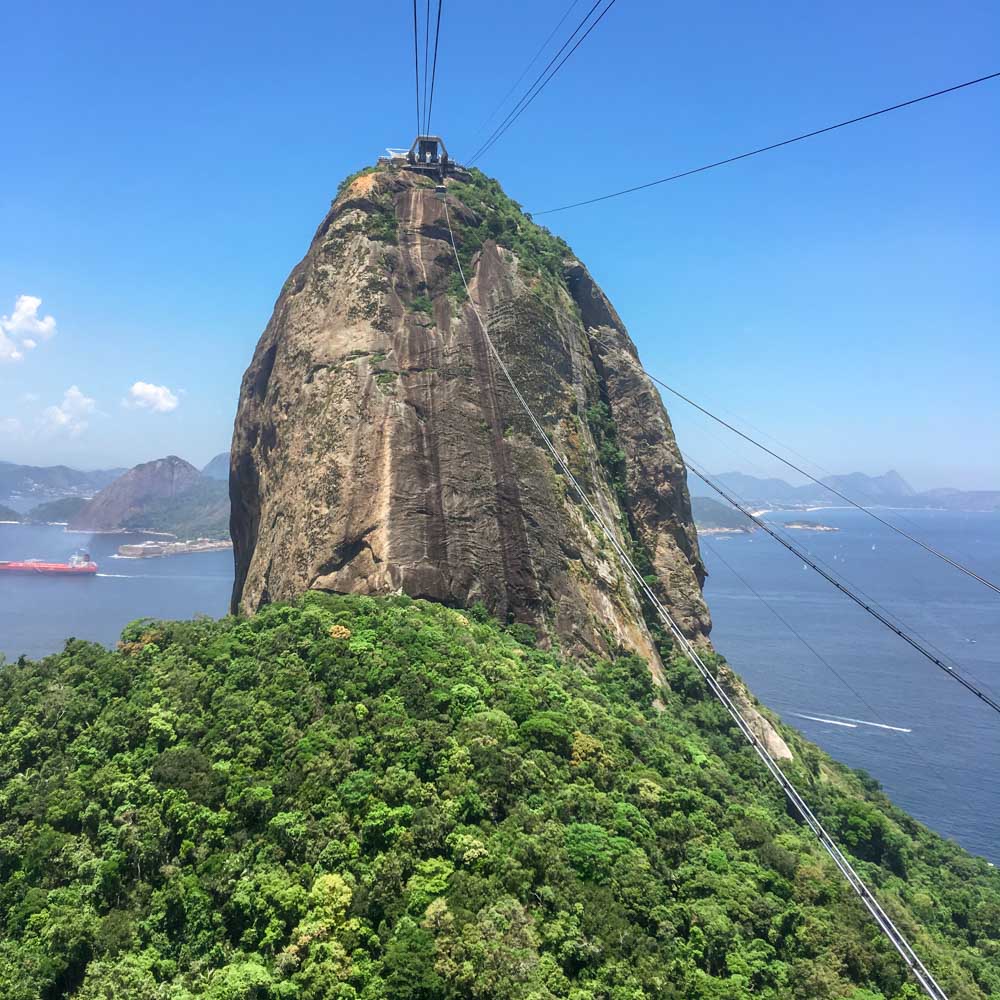
M855 894L861 900L862 905L865 907L866 910L868 910L869 914L875 920L879 929L889 939L889 942L896 949L897 953L902 958L907 968L910 970L910 973L913 975L914 979L916 979L916 981L920 984L921 989L927 994L927 996L931 997L931 1000L948 1000L947 994L938 985L937 981L927 970L926 966L920 960L920 957L917 955L917 953L913 950L912 945L906 939L905 935L902 933L902 931L899 930L898 927L896 927L896 925L892 922L892 919L885 912L885 910L882 909L882 906L876 899L875 895L865 884L861 876L858 875L858 873L855 871L855 869L853 868L851 863L847 860L846 856L843 854L840 848L837 846L833 838L829 835L829 833L827 833L823 824L819 821L819 819L816 818L815 814L812 812L812 810L806 804L805 800L802 798L798 789L795 787L792 781L785 775L784 771L781 770L781 767L778 765L777 761L774 759L774 757L771 756L770 752L767 750L767 748L763 745L763 743L754 733L752 727L743 717L743 714L740 712L736 703L730 697L726 689L722 686L722 684L712 673L712 671L709 670L709 668L706 666L704 660L701 658L701 655L698 653L698 650L693 644L693 642L684 634L680 626L671 617L670 612L667 611L667 609L663 606L659 598L653 592L652 588L646 582L642 573L639 571L635 563L632 561L628 552L625 551L625 548L622 545L622 543L618 541L611 525L608 524L608 522L601 514L601 512L598 511L597 508L594 506L594 504L591 502L590 497L587 495L586 491L583 489L583 487L577 481L576 477L573 475L573 472L570 469L569 465L567 464L566 460L562 457L562 455L559 453L559 450L552 443L552 440L546 433L545 428L542 427L541 423L539 423L538 418L535 416L534 411L531 409L531 406L528 404L527 400L521 394L521 391L518 388L517 383L514 381L514 377L511 375L510 369L504 362L503 356L500 354L496 345L493 343L493 339L490 337L489 331L486 327L486 323L484 322L482 315L479 312L479 307L476 305L476 302L472 297L472 293L469 290L469 284L465 278L465 270L462 267L462 261L458 254L458 244L455 242L455 232L452 229L451 225L451 213L448 209L447 196L445 196L444 200L444 211L445 211L445 220L448 226L448 235L451 239L451 248L455 256L455 262L458 265L458 273L462 279L462 284L465 288L465 292L468 297L468 301L472 307L472 311L475 314L476 319L479 323L479 328L483 332L483 339L486 341L486 346L489 349L489 353L496 361L501 372L506 378L507 383L510 385L511 390L514 393L514 396L520 403L521 408L524 410L525 414L528 416L528 419L531 421L532 426L535 428L535 431L538 433L539 437L544 442L545 447L548 449L553 459L555 459L557 466L559 467L562 474L566 477L567 482L570 483L574 492L576 492L576 494L580 497L580 500L583 502L584 506L593 516L597 525L604 532L606 539L610 542L612 548L618 554L619 559L621 559L622 565L635 580L635 583L639 588L639 590L649 600L654 611L656 612L657 617L659 617L660 621L667 627L667 629L673 636L674 640L677 642L680 649L684 652L685 656L687 656L687 658L691 661L691 663L701 674L709 690L713 693L713 695L715 695L715 697L721 702L722 706L729 713L730 718L733 720L733 722L736 724L736 727L739 729L740 733L743 735L743 737L750 744L754 752L760 758L761 762L767 768L768 772L775 779L775 781L777 781L778 784L781 786L786 797L791 803L792 808L798 813L798 815L802 818L802 821L815 834L817 840L819 840L820 842L820 845L831 857L833 863L837 866L841 874L847 880L848 884L854 890Z

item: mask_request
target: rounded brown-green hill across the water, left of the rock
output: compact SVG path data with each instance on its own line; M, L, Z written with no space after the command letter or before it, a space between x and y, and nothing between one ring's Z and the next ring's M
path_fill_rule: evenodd
M227 538L228 487L168 455L119 476L71 519L80 531L160 531Z

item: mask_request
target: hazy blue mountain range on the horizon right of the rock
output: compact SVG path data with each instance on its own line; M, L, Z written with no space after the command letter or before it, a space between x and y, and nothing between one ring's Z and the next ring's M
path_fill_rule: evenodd
M759 479L742 472L723 472L714 477L737 496L755 507L802 508L843 505L844 501L830 490L806 483L792 486L783 479ZM689 477L692 496L712 497L717 494L697 476ZM1000 490L935 489L918 493L894 470L883 476L867 476L863 472L828 476L822 482L865 507L912 507L943 510L1000 510Z

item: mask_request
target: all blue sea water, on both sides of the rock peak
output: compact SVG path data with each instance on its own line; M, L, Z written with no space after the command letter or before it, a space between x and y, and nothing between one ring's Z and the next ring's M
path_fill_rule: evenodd
M1000 579L1000 514L903 516L920 537ZM1000 694L1000 597L858 511L768 517L838 528L789 534ZM0 524L0 559L61 560L89 547L100 566L91 579L0 574L0 653L37 658L68 636L112 646L135 618L226 613L231 552L113 558L133 540ZM706 536L702 548L713 640L754 693L834 757L876 777L928 826L1000 863L1000 716L763 533Z

